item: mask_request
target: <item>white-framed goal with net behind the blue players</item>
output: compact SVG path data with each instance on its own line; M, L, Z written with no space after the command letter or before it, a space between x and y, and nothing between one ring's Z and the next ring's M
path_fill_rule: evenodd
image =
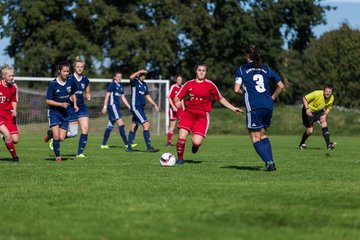
M15 77L18 86L18 111L17 123L20 134L39 134L44 135L49 129L47 108L45 104L46 91L49 81L54 78L40 77ZM86 105L90 113L89 132L90 134L103 134L108 123L108 114L102 114L101 109L104 104L104 97L108 84L112 79L89 78L91 84L91 101ZM145 80L149 87L149 94L158 104L160 112L156 112L150 103L145 106L146 116L151 124L152 134L165 134L169 125L168 109L169 102L167 95L169 92L169 80ZM123 79L125 97L130 103L130 80ZM129 131L132 115L129 109L121 105L122 118L125 122L126 131ZM116 131L112 131L113 134Z

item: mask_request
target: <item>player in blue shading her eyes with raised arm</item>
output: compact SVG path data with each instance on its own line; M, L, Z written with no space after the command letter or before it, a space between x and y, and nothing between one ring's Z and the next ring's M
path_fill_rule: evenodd
M146 78L147 71L141 69L136 71L130 75L130 83L131 83L131 114L133 115L131 129L129 132L129 139L128 139L128 148L126 151L131 152L131 144L134 143L135 133L138 129L139 125L143 126L144 132L144 140L147 146L148 152L158 152L159 149L153 148L150 142L150 123L145 115L145 104L146 100L149 101L154 107L157 112L159 112L159 107L149 95L149 89L146 85L145 78Z

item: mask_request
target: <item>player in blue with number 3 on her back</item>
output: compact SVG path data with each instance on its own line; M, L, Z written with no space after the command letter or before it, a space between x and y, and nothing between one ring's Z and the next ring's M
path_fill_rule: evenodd
M265 162L266 171L276 170L270 140L266 129L270 127L273 101L284 88L281 78L271 68L261 64L260 51L255 45L246 49L247 63L235 73L234 91L244 94L246 125L257 154ZM271 95L270 81L276 84Z

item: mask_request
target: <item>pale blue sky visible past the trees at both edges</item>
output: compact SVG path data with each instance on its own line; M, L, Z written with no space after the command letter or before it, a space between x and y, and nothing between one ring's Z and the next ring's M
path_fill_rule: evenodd
M326 13L327 24L314 28L316 37L323 33L338 29L342 23L346 22L353 29L360 29L360 0L325 0L324 5L337 7L335 11ZM13 59L4 54L9 39L0 40L0 65L7 63L12 65Z

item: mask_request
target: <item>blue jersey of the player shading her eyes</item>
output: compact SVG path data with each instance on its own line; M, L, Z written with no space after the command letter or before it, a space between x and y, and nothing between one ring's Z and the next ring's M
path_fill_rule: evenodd
M145 82L139 78L131 80L131 110L144 109L146 104L145 96L149 94L149 89Z

